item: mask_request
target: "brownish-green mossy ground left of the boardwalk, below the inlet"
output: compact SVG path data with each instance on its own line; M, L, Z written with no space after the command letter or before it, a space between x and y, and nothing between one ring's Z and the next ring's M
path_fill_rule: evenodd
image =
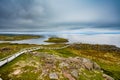
M15 54L21 49L29 48L37 45L15 44L15 43L0 43L0 59L9 55Z

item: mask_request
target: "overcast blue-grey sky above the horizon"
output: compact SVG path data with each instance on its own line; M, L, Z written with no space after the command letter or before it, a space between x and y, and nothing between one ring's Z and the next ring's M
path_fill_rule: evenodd
M0 0L0 31L120 31L120 0Z

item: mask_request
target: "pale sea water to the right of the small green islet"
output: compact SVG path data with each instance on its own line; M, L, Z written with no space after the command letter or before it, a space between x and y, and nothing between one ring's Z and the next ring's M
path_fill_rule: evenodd
M69 34L69 35L58 35L59 37L69 39L70 43L82 42L90 44L109 44L120 47L120 34Z

